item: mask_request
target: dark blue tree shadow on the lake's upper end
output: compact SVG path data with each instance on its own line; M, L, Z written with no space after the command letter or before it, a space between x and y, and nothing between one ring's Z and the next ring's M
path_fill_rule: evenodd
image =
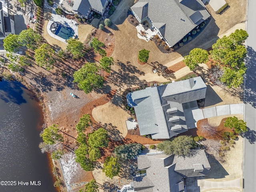
M24 86L17 81L3 80L0 82L0 99L4 102L14 102L18 105L26 103L23 98Z

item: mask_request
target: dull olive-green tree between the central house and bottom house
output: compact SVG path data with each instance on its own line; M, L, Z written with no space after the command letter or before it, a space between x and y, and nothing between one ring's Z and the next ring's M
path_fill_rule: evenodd
M193 138L186 135L178 136L171 141L159 143L157 148L167 155L188 156L190 149L193 148Z

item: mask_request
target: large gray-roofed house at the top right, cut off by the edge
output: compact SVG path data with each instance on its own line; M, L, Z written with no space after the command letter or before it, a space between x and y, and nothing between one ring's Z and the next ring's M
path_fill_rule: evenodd
M151 23L169 47L210 17L201 0L139 0L131 10L140 23Z

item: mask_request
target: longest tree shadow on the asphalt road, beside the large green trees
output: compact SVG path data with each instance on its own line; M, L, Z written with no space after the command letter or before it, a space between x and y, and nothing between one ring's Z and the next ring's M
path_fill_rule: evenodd
M255 86L255 70L256 70L256 52L252 47L247 47L246 63L246 87L245 87L245 104L250 104L256 108L256 86Z

